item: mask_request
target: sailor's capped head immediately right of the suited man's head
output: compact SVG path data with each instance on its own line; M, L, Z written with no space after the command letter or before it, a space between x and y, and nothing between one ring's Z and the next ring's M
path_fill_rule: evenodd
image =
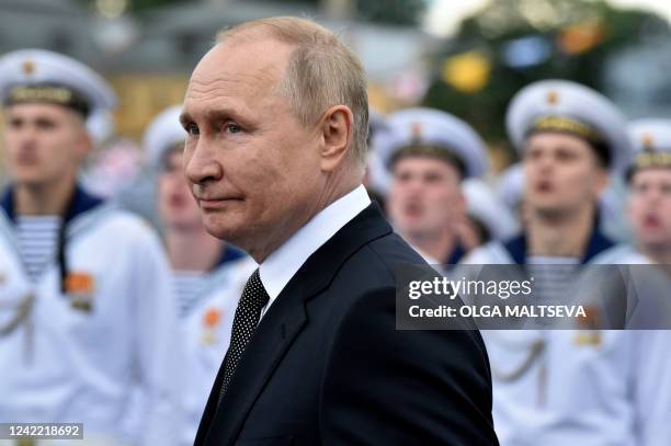
M439 110L390 114L373 146L391 174L387 211L396 230L431 264L456 264L465 253L462 180L489 167L482 139L459 118Z

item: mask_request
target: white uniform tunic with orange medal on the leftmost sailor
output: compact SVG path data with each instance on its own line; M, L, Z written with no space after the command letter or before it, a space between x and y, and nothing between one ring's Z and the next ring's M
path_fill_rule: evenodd
M175 444L182 347L160 242L135 216L77 190L67 274L33 283L11 193L0 208L0 422L83 423L86 438ZM140 407L130 416L130 394Z

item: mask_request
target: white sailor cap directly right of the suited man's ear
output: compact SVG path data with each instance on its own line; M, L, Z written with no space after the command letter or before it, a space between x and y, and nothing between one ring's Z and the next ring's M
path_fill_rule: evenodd
M390 114L385 129L374 136L373 146L387 169L405 153L419 153L414 150L419 148L457 160L464 167L464 178L481 176L489 169L487 148L478 134L458 117L434 108Z

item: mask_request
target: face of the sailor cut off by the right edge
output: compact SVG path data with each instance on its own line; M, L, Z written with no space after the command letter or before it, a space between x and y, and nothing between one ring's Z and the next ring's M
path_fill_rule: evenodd
M671 169L634 173L628 211L639 243L671 245Z

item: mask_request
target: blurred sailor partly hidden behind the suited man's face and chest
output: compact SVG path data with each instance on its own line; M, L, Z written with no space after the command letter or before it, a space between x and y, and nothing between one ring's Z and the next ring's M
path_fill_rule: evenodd
M238 299L257 265L244 252L205 230L182 168L186 134L180 112L181 106L161 112L148 126L144 147L156 174L174 305L186 346L183 388L187 423L181 444L192 445L230 341Z

